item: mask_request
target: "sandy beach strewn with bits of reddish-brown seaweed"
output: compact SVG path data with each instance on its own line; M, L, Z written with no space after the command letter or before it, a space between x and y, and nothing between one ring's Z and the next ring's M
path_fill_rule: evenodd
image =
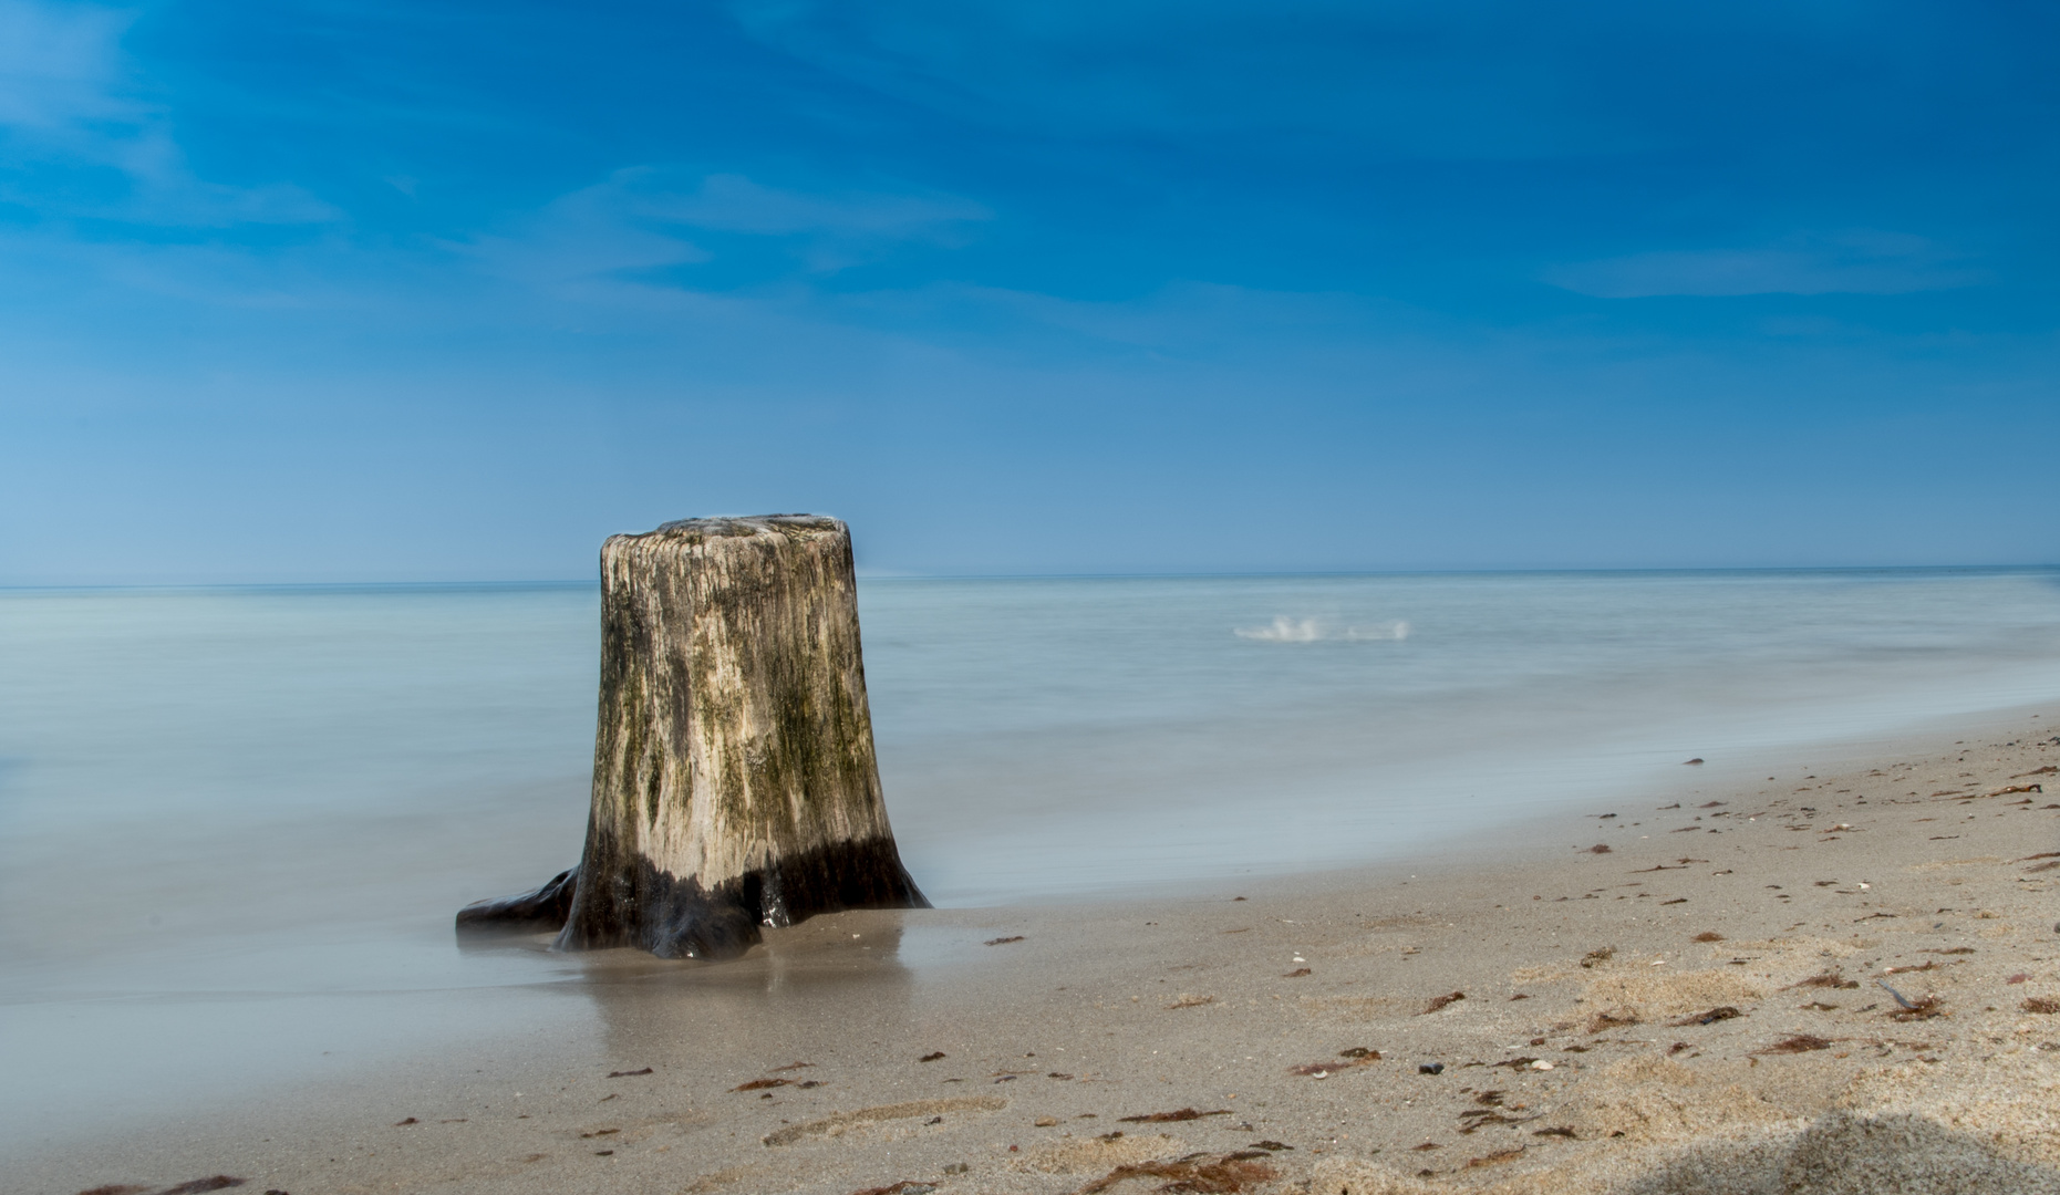
M597 958L562 1032L89 1135L0 1185L2060 1191L2054 731L2023 711L1617 801L1417 878Z

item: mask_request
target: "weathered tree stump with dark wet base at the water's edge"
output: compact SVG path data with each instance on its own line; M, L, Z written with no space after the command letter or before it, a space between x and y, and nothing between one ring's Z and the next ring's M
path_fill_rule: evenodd
M579 867L461 931L727 958L760 925L927 909L880 795L851 532L684 519L602 546L602 703Z

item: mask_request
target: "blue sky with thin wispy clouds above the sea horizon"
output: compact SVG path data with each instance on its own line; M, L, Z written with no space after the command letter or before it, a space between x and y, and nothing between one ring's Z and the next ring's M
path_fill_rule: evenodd
M2050 562L2056 23L0 0L0 583Z

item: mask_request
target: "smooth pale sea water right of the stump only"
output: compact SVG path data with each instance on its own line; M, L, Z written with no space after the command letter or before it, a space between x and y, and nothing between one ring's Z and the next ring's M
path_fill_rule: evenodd
M904 581L865 618L943 900L1393 857L2060 694L2054 571Z

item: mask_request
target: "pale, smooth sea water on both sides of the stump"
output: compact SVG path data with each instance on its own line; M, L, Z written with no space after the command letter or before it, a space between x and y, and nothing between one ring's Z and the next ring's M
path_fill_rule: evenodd
M1689 756L2060 696L2056 569L859 593L888 810L939 907L1508 845ZM0 591L0 1148L591 1018L581 958L461 954L451 915L577 861L597 608Z

